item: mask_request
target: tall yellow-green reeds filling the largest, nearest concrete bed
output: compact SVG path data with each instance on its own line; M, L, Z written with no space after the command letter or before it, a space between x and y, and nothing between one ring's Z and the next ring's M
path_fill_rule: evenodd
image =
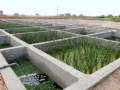
M114 45L108 43L106 46L100 41L81 38L76 43L64 43L62 47L56 43L46 53L85 74L92 74L120 57L119 47L116 50Z

